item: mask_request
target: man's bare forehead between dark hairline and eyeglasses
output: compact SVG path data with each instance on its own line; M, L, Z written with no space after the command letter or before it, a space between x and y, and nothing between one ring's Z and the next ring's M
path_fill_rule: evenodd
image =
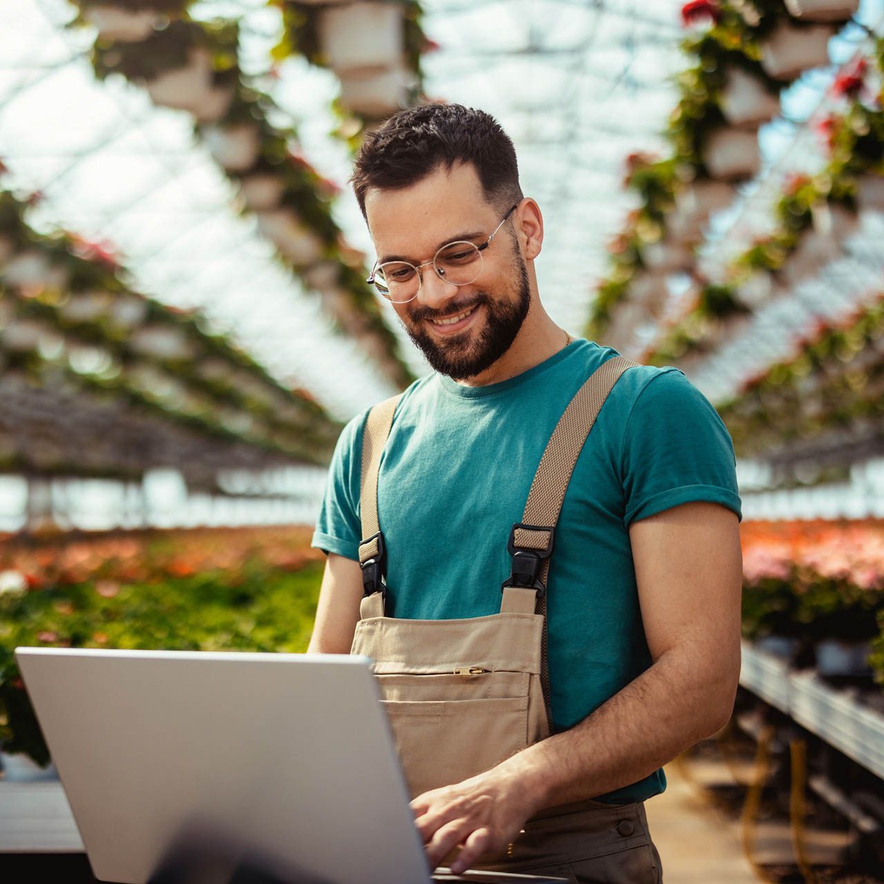
M420 258L439 245L485 228L494 210L485 202L472 164L440 166L423 179L396 190L370 188L365 214L377 255Z

